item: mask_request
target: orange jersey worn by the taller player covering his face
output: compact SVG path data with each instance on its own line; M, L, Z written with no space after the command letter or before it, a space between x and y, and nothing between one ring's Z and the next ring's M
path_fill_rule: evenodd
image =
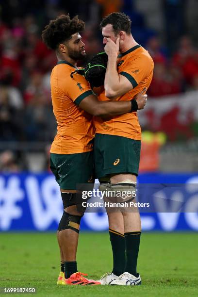
M148 88L152 80L153 60L148 51L140 45L118 55L117 71L132 83L132 90L115 100L131 100L134 96ZM105 91L99 95L99 100L110 100L105 97ZM114 117L95 117L96 133L124 136L141 140L141 128L137 112Z

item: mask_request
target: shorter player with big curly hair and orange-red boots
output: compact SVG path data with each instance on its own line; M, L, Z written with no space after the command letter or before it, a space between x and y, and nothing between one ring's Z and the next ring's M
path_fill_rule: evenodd
M50 149L50 168L60 185L64 212L57 238L61 253L61 272L58 284L96 285L78 272L76 252L80 221L83 212L77 205L77 184L93 182L92 115L120 115L132 111L130 101L99 101L85 78L74 73L77 61L85 57L80 32L85 23L78 16L70 19L62 15L51 20L42 32L44 43L55 50L57 65L50 77L53 112L57 121L57 134ZM144 108L146 96L136 98L138 108ZM65 274L64 274L65 272Z

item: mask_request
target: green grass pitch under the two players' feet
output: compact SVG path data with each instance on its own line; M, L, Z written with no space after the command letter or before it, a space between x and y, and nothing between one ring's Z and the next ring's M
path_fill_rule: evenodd
M198 296L197 248L196 233L143 233L138 262L142 286L57 286L55 234L1 233L0 287L35 287L36 296ZM81 233L77 260L79 271L89 278L110 271L108 233Z

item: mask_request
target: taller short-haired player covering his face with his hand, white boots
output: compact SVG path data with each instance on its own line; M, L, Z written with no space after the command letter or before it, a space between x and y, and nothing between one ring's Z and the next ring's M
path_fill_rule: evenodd
M100 28L108 65L104 91L99 100L131 100L145 87L148 88L152 80L153 60L148 51L133 39L129 16L112 13L103 18ZM96 117L95 128L95 170L100 190L131 190L132 193L138 175L141 146L137 112ZM127 211L109 212L108 218L114 264L112 273L106 273L100 279L101 284L141 284L136 271L141 234L138 209L133 207Z

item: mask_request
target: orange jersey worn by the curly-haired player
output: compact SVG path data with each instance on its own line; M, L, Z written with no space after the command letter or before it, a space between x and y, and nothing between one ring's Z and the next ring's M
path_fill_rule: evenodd
M50 152L74 154L93 148L93 116L78 107L82 99L94 94L89 83L75 67L60 61L52 69L50 84L53 113L57 121L57 134Z

